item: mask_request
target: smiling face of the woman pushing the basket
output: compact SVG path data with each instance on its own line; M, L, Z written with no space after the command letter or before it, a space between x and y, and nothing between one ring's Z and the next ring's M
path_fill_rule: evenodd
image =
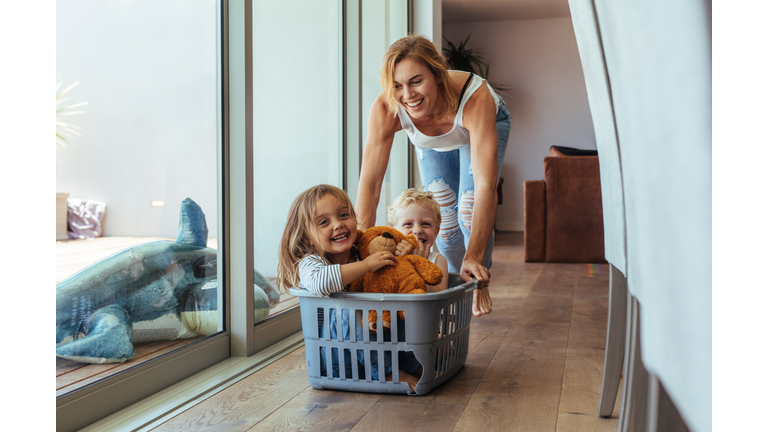
M421 61L406 58L395 65L395 100L413 118L439 114L442 99L437 80Z

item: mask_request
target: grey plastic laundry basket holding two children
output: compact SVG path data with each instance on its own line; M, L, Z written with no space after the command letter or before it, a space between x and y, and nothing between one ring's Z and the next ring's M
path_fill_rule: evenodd
M461 369L467 359L469 346L469 324L472 319L472 291L477 288L477 281L462 281L458 275L451 274L445 291L428 294L374 294L339 292L330 297L316 297L302 288L291 288L290 293L299 297L301 323L304 332L304 344L307 356L309 383L316 389L347 390L373 393L412 394L408 384L399 381L398 355L400 351L412 351L421 363L423 373L415 387L416 394L423 396L433 388L444 383ZM337 339L331 339L329 322L331 309L336 314ZM393 319L391 331L378 337L369 334L368 311L376 311L377 329L382 329L382 312L397 311L405 313L404 340L398 340L398 320ZM344 340L342 314L350 318L349 340ZM325 317L325 318L323 318ZM402 321L401 321L402 323ZM353 327L354 326L354 327ZM357 326L365 326L363 340L356 340ZM323 327L325 337L319 337ZM384 333L384 332L379 332ZM388 336L388 337L387 337ZM323 348L325 348L323 350ZM325 351L328 365L325 376L321 375L320 356ZM384 353L391 355L392 376L387 381L384 373L379 379L371 377L371 364L365 362L365 372L358 366L357 354L362 351L364 359L371 358L371 351L378 358L379 371L383 371ZM332 352L336 354L339 377L331 373ZM345 378L347 360L342 353L351 357L352 377ZM340 363L340 364L339 364ZM360 370L359 370L360 369ZM432 373L429 373L432 371Z

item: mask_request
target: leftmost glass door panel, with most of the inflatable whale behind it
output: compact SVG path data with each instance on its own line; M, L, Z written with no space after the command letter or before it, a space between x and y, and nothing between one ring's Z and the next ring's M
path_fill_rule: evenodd
M56 245L61 430L229 356L221 7L57 3L56 187L69 225ZM82 409L94 400L104 409Z

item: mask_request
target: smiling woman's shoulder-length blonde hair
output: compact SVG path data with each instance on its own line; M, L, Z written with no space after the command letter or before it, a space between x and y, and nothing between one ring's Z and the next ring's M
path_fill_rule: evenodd
M435 76L438 92L443 98L443 112L441 114L454 111L459 105L459 96L450 85L445 58L437 52L429 39L420 35L408 35L389 46L381 66L381 88L387 95L389 112L397 115L399 107L395 100L395 66L407 58L421 61Z

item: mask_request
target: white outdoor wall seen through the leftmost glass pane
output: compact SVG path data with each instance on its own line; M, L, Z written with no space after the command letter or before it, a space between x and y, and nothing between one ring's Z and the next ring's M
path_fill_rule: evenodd
M216 237L216 66L214 0L57 2L59 90L88 105L56 189L105 202L104 235L176 237L190 197Z

